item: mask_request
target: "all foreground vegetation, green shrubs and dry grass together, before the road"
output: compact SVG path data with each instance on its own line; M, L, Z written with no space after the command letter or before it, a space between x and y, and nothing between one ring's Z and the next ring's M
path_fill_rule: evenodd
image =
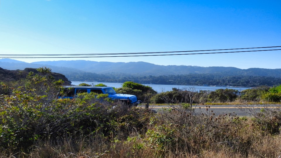
M37 71L0 85L0 157L280 157L280 108L237 117L208 107L195 113L185 102L154 113L95 93L56 99L63 81ZM154 95L133 82L124 87ZM267 92L278 96L280 87Z

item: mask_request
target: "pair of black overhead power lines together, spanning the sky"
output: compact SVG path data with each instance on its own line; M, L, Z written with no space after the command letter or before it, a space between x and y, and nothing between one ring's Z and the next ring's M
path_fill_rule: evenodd
M184 52L200 52L200 51L224 51L224 50L239 50L239 49L257 49L257 48L278 48L281 46L272 47L255 47L255 48L232 48L232 49L213 49L213 50L197 50L197 51L169 51L169 52L143 52L143 53L102 53L102 54L0 54L0 58L103 58L103 57L138 57L138 56L166 56L166 55L196 55L196 54L218 54L218 53L245 53L258 51L279 51L281 49L267 50L249 50L249 51L231 51L231 52L211 52L211 53L184 53ZM184 54L154 54L154 53L184 53ZM132 54L132 55L129 55ZM137 55L136 55L137 54ZM153 54L153 55L139 55ZM91 55L91 56L81 56ZM92 56L92 55L114 55L114 56ZM117 55L117 56L115 56ZM40 56L40 57L38 57ZM41 57L43 56L43 57ZM47 57L46 57L47 56ZM56 56L56 57L52 57ZM59 57L57 57L59 56Z

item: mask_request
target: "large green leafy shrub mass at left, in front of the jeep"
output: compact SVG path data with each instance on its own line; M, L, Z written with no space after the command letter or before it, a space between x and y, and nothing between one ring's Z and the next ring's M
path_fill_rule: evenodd
M40 69L39 69L40 70ZM29 151L37 141L82 135L111 140L129 129L141 132L152 113L113 102L107 94L80 93L75 100L56 99L60 81L49 69L29 74L18 88L0 86L0 148Z

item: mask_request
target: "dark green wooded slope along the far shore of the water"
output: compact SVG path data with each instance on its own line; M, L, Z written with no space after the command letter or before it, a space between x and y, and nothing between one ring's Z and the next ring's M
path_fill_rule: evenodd
M209 86L276 86L281 84L281 78L264 76L235 75L226 76L216 74L186 74L186 75L161 75L161 76L133 76L128 74L65 74L71 81L97 81L123 83L133 81L141 84L171 84L171 85L209 85Z

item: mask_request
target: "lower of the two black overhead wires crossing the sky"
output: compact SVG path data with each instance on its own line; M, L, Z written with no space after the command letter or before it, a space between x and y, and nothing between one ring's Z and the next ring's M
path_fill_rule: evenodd
M280 46L281 47L281 46ZM211 52L211 53L189 53L189 54L157 54L157 55L122 55L122 56L85 56L85 57L6 57L6 58L104 58L104 57L138 57L138 56L166 56L166 55L195 55L195 54L220 54L220 53L242 53L242 52L258 52L258 51L280 51L281 49L269 49L269 50L255 50L255 51L234 51L234 52ZM180 51L186 52L186 51ZM0 58L5 58L1 57Z

